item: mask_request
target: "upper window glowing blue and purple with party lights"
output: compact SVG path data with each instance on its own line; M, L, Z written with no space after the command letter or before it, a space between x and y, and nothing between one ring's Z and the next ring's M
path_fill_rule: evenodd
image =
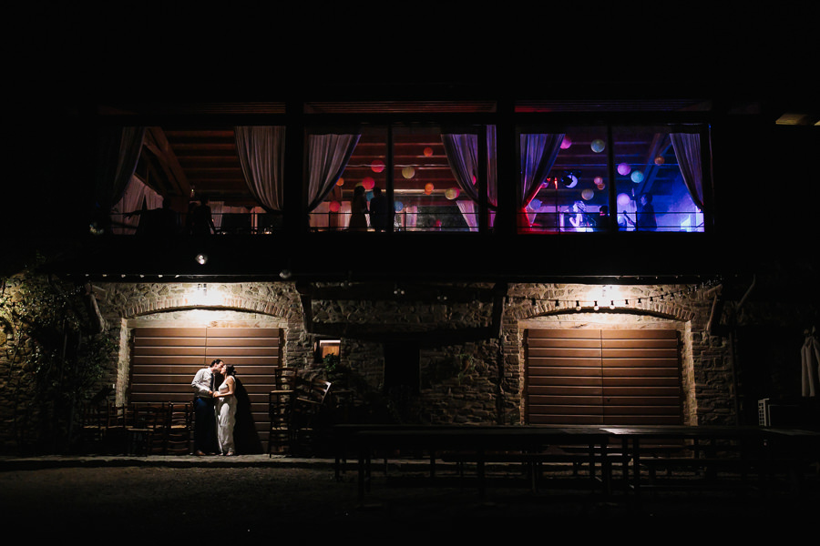
M702 126L518 133L519 232L703 231Z

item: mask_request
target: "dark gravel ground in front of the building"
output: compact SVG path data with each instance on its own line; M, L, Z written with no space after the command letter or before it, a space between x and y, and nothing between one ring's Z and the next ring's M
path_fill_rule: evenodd
M154 540L159 533L228 533L231 541L248 543L483 541L545 530L606 536L613 523L624 522L669 531L673 521L689 521L683 533L708 529L715 537L741 531L759 540L764 532L814 526L818 508L815 502L784 504L734 494L669 496L636 507L622 498L600 501L587 491L527 488L489 489L481 499L471 487L396 487L382 474L374 476L373 489L360 503L355 472L335 480L327 465L18 468L0 471L0 491L4 520L25 525L30 538L79 532L126 541Z

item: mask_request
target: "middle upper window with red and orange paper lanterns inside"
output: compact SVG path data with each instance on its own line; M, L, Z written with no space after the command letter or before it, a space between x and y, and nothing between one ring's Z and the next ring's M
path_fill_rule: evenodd
M492 226L493 127L366 126L342 133L318 128L308 136L313 230L475 232L482 223Z

